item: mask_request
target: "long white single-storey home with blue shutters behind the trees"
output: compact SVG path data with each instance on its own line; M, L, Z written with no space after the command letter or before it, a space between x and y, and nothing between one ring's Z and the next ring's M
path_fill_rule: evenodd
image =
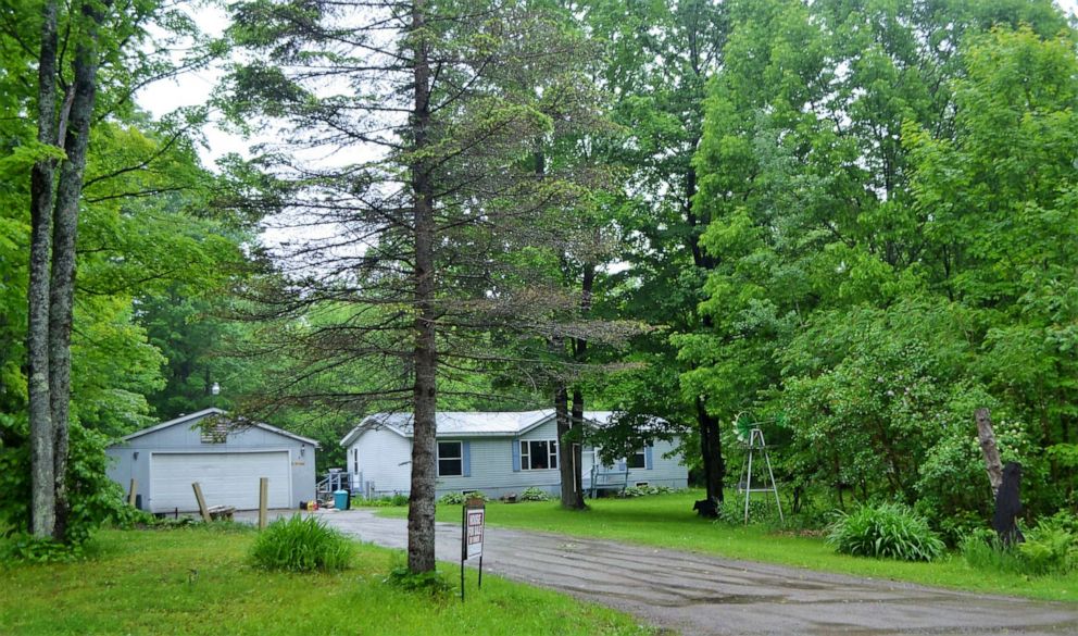
M610 411L588 411L591 425L607 423ZM480 490L490 497L541 488L556 495L557 424L553 410L514 412L439 412L437 495ZM341 439L353 492L365 497L406 494L412 461L412 415L377 413ZM619 471L628 486L685 488L688 469L670 442L656 441L625 458ZM591 488L596 452L585 447L585 489Z

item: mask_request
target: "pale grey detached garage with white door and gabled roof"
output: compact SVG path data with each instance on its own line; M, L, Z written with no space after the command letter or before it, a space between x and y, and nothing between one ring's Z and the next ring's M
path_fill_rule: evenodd
M131 479L142 510L198 510L191 484L206 506L259 507L259 479L270 479L270 508L314 499L318 442L258 422L230 423L221 409L162 422L108 449L109 477L126 492Z

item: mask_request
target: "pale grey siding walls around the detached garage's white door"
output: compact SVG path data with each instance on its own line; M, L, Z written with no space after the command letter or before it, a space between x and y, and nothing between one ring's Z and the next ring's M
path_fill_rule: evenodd
M299 506L301 500L314 499L315 449L311 445L258 427L230 431L223 444L204 444L198 426L200 421L201 419L178 422L173 426L110 446L105 450L111 460L106 470L109 478L120 484L125 492L130 487L131 478L137 479L137 494L141 495L143 509L148 509L152 495L150 492L151 453L287 450L291 470L290 504ZM135 458L136 452L138 459ZM253 487L258 488L256 482Z

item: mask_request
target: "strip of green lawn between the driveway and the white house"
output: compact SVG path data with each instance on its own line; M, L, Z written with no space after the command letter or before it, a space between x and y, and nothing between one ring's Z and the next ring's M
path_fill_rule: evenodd
M703 492L690 490L635 499L597 499L589 500L590 509L584 512L562 510L557 502L490 502L487 523L872 578L1078 602L1078 573L1038 577L988 574L969 566L956 552L931 563L849 557L836 553L823 537L701 519L692 511L692 503L702 498ZM406 513L406 509L379 511L387 516ZM461 521L456 506L439 506L437 515L439 521Z

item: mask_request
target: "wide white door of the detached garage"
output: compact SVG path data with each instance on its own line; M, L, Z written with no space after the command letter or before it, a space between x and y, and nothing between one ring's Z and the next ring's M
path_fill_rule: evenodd
M259 478L270 478L270 508L289 508L288 451L154 452L150 464L150 509L198 510L191 484L202 486L206 506L259 507Z

